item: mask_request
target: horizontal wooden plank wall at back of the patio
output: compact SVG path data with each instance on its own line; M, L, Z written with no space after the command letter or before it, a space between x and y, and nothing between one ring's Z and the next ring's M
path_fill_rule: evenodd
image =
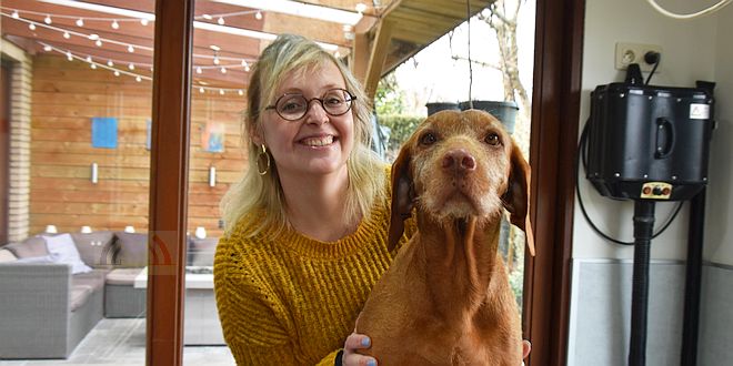
M191 160L189 163L189 231L204 226L221 235L219 201L244 167L240 122L245 100L235 93L192 93ZM93 230L147 231L150 191L152 87L88 64L41 54L33 63L31 94L30 233L54 224L61 232L82 225ZM118 119L118 148L91 145L91 118ZM207 123L225 126L224 151L204 151ZM91 164L99 165L92 184ZM209 166L217 185L209 186Z

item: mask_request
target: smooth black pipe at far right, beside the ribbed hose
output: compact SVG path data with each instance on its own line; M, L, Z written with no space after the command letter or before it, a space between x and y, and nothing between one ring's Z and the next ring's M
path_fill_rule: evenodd
M682 358L680 365L697 364L697 331L700 324L700 284L702 281L703 231L705 224L705 187L690 201L687 233L687 271L684 284L684 317L682 321Z

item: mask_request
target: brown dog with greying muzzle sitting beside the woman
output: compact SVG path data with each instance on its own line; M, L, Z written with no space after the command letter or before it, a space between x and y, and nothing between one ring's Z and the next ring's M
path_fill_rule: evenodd
M528 234L529 165L491 114L443 111L392 167L389 246L416 210L418 232L357 321L382 366L522 364L520 314L498 251L503 209Z

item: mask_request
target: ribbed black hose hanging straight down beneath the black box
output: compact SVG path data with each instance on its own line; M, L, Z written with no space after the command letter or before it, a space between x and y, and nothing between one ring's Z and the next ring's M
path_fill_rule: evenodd
M653 231L654 201L634 201L634 276L631 293L630 366L646 364L649 260Z

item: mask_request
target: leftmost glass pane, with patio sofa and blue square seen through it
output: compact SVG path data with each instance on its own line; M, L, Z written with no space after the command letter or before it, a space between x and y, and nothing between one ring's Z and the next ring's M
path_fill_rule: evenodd
M154 2L0 4L0 358L142 365Z

